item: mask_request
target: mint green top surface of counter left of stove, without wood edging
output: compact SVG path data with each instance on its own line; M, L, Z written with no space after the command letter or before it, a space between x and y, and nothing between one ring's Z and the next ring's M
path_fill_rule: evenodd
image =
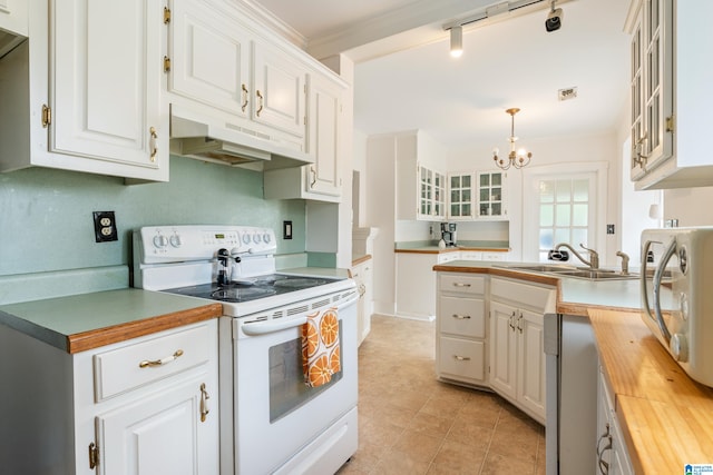
M126 288L68 297L47 298L0 306L0 324L57 348L70 350L72 336L134 325L144 320L144 334L152 333L152 319L206 306L206 300L159 291ZM217 315L216 315L217 316ZM185 325L185 321L176 323ZM155 331L170 327L163 321ZM127 335L128 338L134 335ZM125 338L125 339L128 339ZM74 352L72 352L74 353Z

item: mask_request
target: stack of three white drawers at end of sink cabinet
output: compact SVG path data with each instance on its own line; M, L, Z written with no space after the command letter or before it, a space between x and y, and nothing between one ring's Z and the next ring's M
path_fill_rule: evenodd
M439 379L486 385L486 278L439 274L436 375Z

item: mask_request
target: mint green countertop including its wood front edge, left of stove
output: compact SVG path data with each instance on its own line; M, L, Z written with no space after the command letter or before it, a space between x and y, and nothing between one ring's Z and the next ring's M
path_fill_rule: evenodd
M218 303L141 289L0 306L0 324L74 354L216 318Z

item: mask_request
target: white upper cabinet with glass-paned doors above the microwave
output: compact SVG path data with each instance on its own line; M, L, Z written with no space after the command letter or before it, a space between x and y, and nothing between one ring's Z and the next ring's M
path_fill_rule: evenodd
M711 2L634 0L632 33L632 180L637 189L713 185L707 125L713 49Z

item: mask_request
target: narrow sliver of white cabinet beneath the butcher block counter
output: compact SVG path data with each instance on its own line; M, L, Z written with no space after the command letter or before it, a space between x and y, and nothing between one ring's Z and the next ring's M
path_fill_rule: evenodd
M600 368L599 368L600 369ZM622 436L612 392L604 373L599 370L597 387L597 475L634 475L634 468Z

